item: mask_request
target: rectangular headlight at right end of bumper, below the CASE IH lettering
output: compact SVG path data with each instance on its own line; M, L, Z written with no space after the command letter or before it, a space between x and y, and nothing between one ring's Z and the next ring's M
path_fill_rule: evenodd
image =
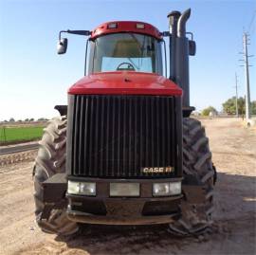
M181 193L181 182L162 182L153 184L154 196L167 196Z

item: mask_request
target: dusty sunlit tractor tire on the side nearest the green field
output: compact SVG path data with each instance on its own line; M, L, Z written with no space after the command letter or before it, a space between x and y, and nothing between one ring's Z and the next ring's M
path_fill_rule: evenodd
M78 226L67 219L65 206L62 209L53 207L50 209L49 217L42 217L45 210L42 183L55 173L65 172L66 117L51 119L39 144L33 169L37 224L47 233L73 234L78 230Z

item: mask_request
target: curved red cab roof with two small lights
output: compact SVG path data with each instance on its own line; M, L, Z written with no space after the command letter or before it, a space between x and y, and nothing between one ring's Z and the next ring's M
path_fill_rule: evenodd
M112 21L103 23L92 30L90 39L94 40L105 34L121 32L147 34L158 40L162 39L162 35L156 27L139 21Z

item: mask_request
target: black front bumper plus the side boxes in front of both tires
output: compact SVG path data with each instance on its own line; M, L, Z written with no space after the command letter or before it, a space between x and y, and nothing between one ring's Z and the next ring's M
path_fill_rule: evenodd
M170 223L180 217L183 195L153 197L153 183L176 182L182 178L165 179L90 179L69 176L74 181L92 181L97 184L97 195L70 195L66 193L65 173L57 173L43 182L44 211L42 218L48 219L51 209L66 208L70 220L82 223L109 225L143 225ZM110 197L109 187L113 182L136 182L140 186L139 197ZM204 184L192 175L182 180L182 193L191 204L205 201ZM67 198L67 199L66 199Z

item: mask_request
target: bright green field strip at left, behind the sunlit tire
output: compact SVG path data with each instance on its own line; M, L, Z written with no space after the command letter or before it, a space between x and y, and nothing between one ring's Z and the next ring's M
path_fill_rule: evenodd
M0 127L0 145L39 139L43 129L43 126Z

